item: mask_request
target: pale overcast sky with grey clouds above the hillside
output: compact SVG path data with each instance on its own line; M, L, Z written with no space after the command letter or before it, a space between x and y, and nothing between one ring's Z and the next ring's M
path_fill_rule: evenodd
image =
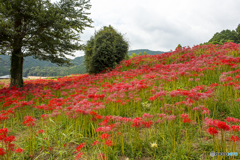
M125 35L130 50L192 47L240 24L240 0L91 0L91 5L94 28L86 28L81 40L86 42L95 30L112 25Z

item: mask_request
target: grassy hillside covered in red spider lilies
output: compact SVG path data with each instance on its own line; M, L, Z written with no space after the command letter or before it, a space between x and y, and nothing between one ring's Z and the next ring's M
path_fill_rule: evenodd
M23 89L2 84L0 159L239 159L239 81L240 44L230 42Z

